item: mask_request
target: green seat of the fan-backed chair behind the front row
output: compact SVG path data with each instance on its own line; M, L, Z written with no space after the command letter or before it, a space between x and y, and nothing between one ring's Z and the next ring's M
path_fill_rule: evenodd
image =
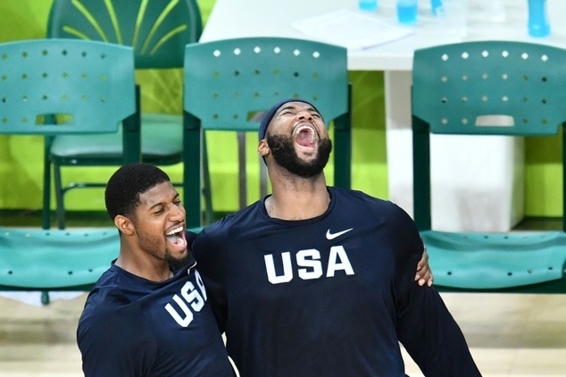
M144 114L141 121L144 160L180 155L183 128L180 115ZM62 135L54 138L51 155L59 158L103 158L116 160L122 155L122 132L94 135Z

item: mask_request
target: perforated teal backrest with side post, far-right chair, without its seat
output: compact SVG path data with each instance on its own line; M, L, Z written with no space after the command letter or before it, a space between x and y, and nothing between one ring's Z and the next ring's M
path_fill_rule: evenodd
M429 133L556 135L566 121L565 66L566 49L532 43L479 41L415 51L413 195L420 230L431 225ZM562 132L562 145L564 138ZM564 150L562 157L566 161Z

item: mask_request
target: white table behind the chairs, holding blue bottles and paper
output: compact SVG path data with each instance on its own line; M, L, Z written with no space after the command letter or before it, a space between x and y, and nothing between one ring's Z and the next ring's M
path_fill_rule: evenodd
M466 1L466 0L463 0ZM415 49L427 46L436 46L445 43L454 43L467 40L485 39L504 39L545 43L553 46L566 47L566 25L563 22L563 15L566 14L566 1L547 0L547 10L551 25L551 35L545 38L531 38L527 32L527 0L502 0L504 4L504 21L495 21L487 13L487 9L493 6L495 0L467 0L468 1L468 21L467 32L464 37L448 35L442 32L437 19L430 12L429 0L419 0L419 14L416 25L410 27L415 33L409 37L396 40L380 46L374 46L363 50L348 50L348 69L351 71L384 71L385 90L386 90L386 126L387 126L387 167L389 199L401 205L409 214L412 214L412 150L411 150L411 70L412 54ZM209 20L204 28L202 42L224 39L224 38L243 38L243 37L287 37L287 38L306 38L300 31L291 26L293 21L303 20L308 17L322 13L328 13L340 8L358 10L357 0L216 0ZM379 0L377 11L365 13L374 16L382 21L396 21L395 0ZM436 135L431 138L431 143L442 143L436 139ZM450 138L450 137L438 137ZM459 141L450 141L452 147ZM468 148L473 151L474 146L470 146L469 141L460 147ZM501 139L495 141L494 149L507 150L507 170L510 176L505 178L509 186L501 197L511 195L512 186L521 186L518 180L522 180L520 166L513 164L520 162L522 158L522 139L509 140ZM497 143L501 143L497 145ZM510 144L511 143L511 144ZM436 147L433 144L433 147ZM470 160L468 157L462 157ZM450 207L446 193L438 191L435 193L435 178L437 172L444 170L437 167L438 162L435 157L434 149L432 154L432 180L433 180L433 228L445 230L454 224L454 218L460 219L466 214L454 214L451 218L446 217L444 224L435 224L437 212L443 211L435 205L435 197L442 197L445 206ZM453 161L454 162L454 161ZM486 180L498 179L501 174L487 174ZM465 178L465 177L461 177ZM479 177L476 177L478 179ZM479 178L481 180L481 178ZM493 183L493 182L492 182ZM462 183L468 185L467 183ZM493 188L487 188L493 192ZM515 188L516 189L516 188ZM475 216L481 222L457 223L456 228L466 228L462 230L507 230L513 222L522 217L522 206L517 206L516 202L522 205L522 193L519 190L519 197L513 198L512 202L504 205L503 218L499 221L495 219L494 208L487 203L487 214L495 222L486 222L482 216ZM485 197L483 194L479 194ZM454 197L454 200L462 200ZM467 197L470 201L470 197ZM495 197L495 203L500 199ZM455 203L455 202L454 202ZM457 204L454 204L458 206ZM453 205L453 206L454 206ZM479 205L473 204L469 211L478 209ZM511 216L509 215L511 214ZM441 217L441 216L440 216ZM474 217L474 216L470 216ZM483 224L483 225L482 225ZM486 225L487 224L487 225ZM484 225L488 229L482 228Z

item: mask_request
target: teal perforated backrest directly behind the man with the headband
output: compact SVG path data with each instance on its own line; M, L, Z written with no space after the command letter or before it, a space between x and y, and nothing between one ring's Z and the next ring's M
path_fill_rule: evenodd
M184 110L203 130L257 130L286 98L311 101L328 122L348 112L344 47L293 38L236 38L187 46Z

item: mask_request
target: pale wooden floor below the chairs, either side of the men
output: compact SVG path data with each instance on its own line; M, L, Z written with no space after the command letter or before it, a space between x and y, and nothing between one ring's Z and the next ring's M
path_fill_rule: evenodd
M484 377L566 376L566 295L443 293ZM86 294L48 306L0 297L0 376L81 376ZM407 373L422 376L407 358ZM350 377L350 376L348 376Z

